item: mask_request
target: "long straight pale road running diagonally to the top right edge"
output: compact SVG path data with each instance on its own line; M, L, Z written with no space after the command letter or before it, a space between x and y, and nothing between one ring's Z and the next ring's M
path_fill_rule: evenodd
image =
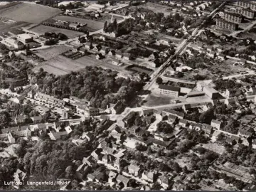
M166 68L169 67L170 63L171 63L171 60L173 58L176 57L176 55L179 55L179 53L181 53L185 48L186 46L188 45L188 43L194 38L197 36L198 34L198 30L203 28L203 25L206 23L206 20L210 19L213 14L215 14L215 12L217 12L223 5L225 4L225 2L223 2L222 4L220 4L220 6L218 6L218 8L214 9L208 17L206 17L206 19L200 24L200 26L198 26L197 28L194 29L194 31L192 32L191 36L187 39L185 39L184 41L181 42L181 44L178 46L178 48L176 49L176 53L173 55L173 56L170 56L166 62L161 65L152 75L152 79L151 79L151 82L149 82L148 84L146 84L144 86L144 90L151 90L151 87L152 85L154 85L154 82L156 82L156 79L160 77L160 75L162 73L164 73L164 70L166 70ZM201 33L201 31L199 31Z

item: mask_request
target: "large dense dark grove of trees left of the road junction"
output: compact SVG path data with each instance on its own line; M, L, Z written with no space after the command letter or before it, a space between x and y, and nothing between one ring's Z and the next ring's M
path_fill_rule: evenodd
M143 82L118 78L116 72L97 67L86 67L82 72L59 77L46 76L46 73L41 71L36 75L36 82L40 85L41 92L48 95L61 99L73 95L90 100L92 107L102 109L105 109L110 102L132 100L143 86Z

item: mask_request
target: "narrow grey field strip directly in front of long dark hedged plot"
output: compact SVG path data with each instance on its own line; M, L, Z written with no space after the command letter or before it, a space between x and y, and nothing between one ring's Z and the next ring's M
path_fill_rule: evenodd
M68 36L68 38L75 38L80 35L84 35L84 33L79 31L72 31L65 28L55 28L55 27L43 26L43 25L36 26L34 28L31 28L30 30L36 33L40 33L42 35L44 35L44 33L46 32L63 33L66 36Z

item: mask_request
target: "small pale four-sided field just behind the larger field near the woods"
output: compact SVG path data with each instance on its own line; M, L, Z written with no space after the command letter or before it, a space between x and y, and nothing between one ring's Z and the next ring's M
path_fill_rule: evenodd
M44 60L49 60L50 58L60 55L70 49L71 49L70 47L66 47L66 46L55 46L52 48L36 50L33 53L35 53L41 58L44 58Z

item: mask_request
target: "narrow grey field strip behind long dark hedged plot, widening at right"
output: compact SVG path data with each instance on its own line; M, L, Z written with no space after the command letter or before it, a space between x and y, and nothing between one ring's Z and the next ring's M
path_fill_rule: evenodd
M87 23L87 26L84 28L87 29L87 31L97 31L101 28L103 28L104 23L100 21L92 21L84 18L77 18L72 16L55 16L53 19L55 20L63 20L63 21L69 21L69 22L80 22L80 23Z

